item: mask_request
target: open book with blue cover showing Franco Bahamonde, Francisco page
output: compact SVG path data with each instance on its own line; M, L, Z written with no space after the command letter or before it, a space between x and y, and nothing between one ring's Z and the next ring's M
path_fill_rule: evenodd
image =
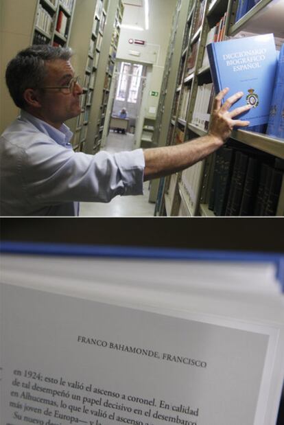
M281 276L281 255L3 243L1 425L275 424Z

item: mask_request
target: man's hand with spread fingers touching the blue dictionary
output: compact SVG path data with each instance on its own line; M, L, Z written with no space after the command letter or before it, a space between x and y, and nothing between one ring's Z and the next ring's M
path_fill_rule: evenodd
M228 93L229 89L223 89L220 93L217 94L214 100L213 113L211 119L211 125L209 128L209 135L215 136L222 141L226 141L230 137L230 133L233 130L234 126L246 127L250 125L249 121L242 121L241 119L233 119L237 115L248 111L252 106L245 105L235 108L232 111L229 111L230 106L232 106L237 100L244 95L244 93L235 93L234 95L228 97L226 102L222 105L222 99Z

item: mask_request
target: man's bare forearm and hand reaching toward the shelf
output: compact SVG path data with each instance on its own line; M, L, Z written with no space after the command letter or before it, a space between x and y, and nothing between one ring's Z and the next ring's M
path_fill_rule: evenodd
M222 99L226 93L228 93L228 88L220 91L215 97L213 116L208 135L193 139L189 143L152 148L144 151L145 181L185 170L185 168L190 167L220 148L224 141L230 137L234 126L245 127L250 124L248 121L233 119L237 115L248 111L251 108L250 105L240 106L229 111L230 106L237 102L244 93L235 93L228 97L222 105Z

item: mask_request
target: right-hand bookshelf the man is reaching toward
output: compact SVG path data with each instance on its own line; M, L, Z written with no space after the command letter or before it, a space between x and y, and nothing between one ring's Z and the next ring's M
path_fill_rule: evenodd
M276 47L279 48L283 43L283 1L260 0L238 21L236 12L237 0L193 2L184 25L175 95L171 100L171 118L167 126L167 144L174 145L185 141L190 143L191 139L207 134L214 96L209 62L206 58L207 43L222 41L228 37L245 39L246 36L270 32L274 33ZM166 78L165 73L164 80ZM155 214L283 216L284 143L281 139L260 133L261 130L263 129L259 129L259 132L234 130L231 138L220 150L220 155L215 152L191 168L161 179ZM235 170L235 158L240 156L238 152L242 152L242 162L240 168ZM248 174L254 159L257 159L255 171ZM263 189L261 175L263 168L267 166L269 171ZM234 170L236 179L233 179ZM247 193L249 183L250 191ZM250 194L249 209L243 207L245 202L242 192L246 192L246 196ZM229 205L230 202L233 202L234 207ZM257 207L260 202L261 208Z

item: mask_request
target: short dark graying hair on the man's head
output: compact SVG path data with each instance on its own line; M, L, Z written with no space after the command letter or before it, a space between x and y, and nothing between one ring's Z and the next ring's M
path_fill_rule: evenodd
M70 47L34 45L19 51L8 63L5 78L14 103L25 108L23 93L26 89L38 89L44 84L47 60L69 60L73 55Z

